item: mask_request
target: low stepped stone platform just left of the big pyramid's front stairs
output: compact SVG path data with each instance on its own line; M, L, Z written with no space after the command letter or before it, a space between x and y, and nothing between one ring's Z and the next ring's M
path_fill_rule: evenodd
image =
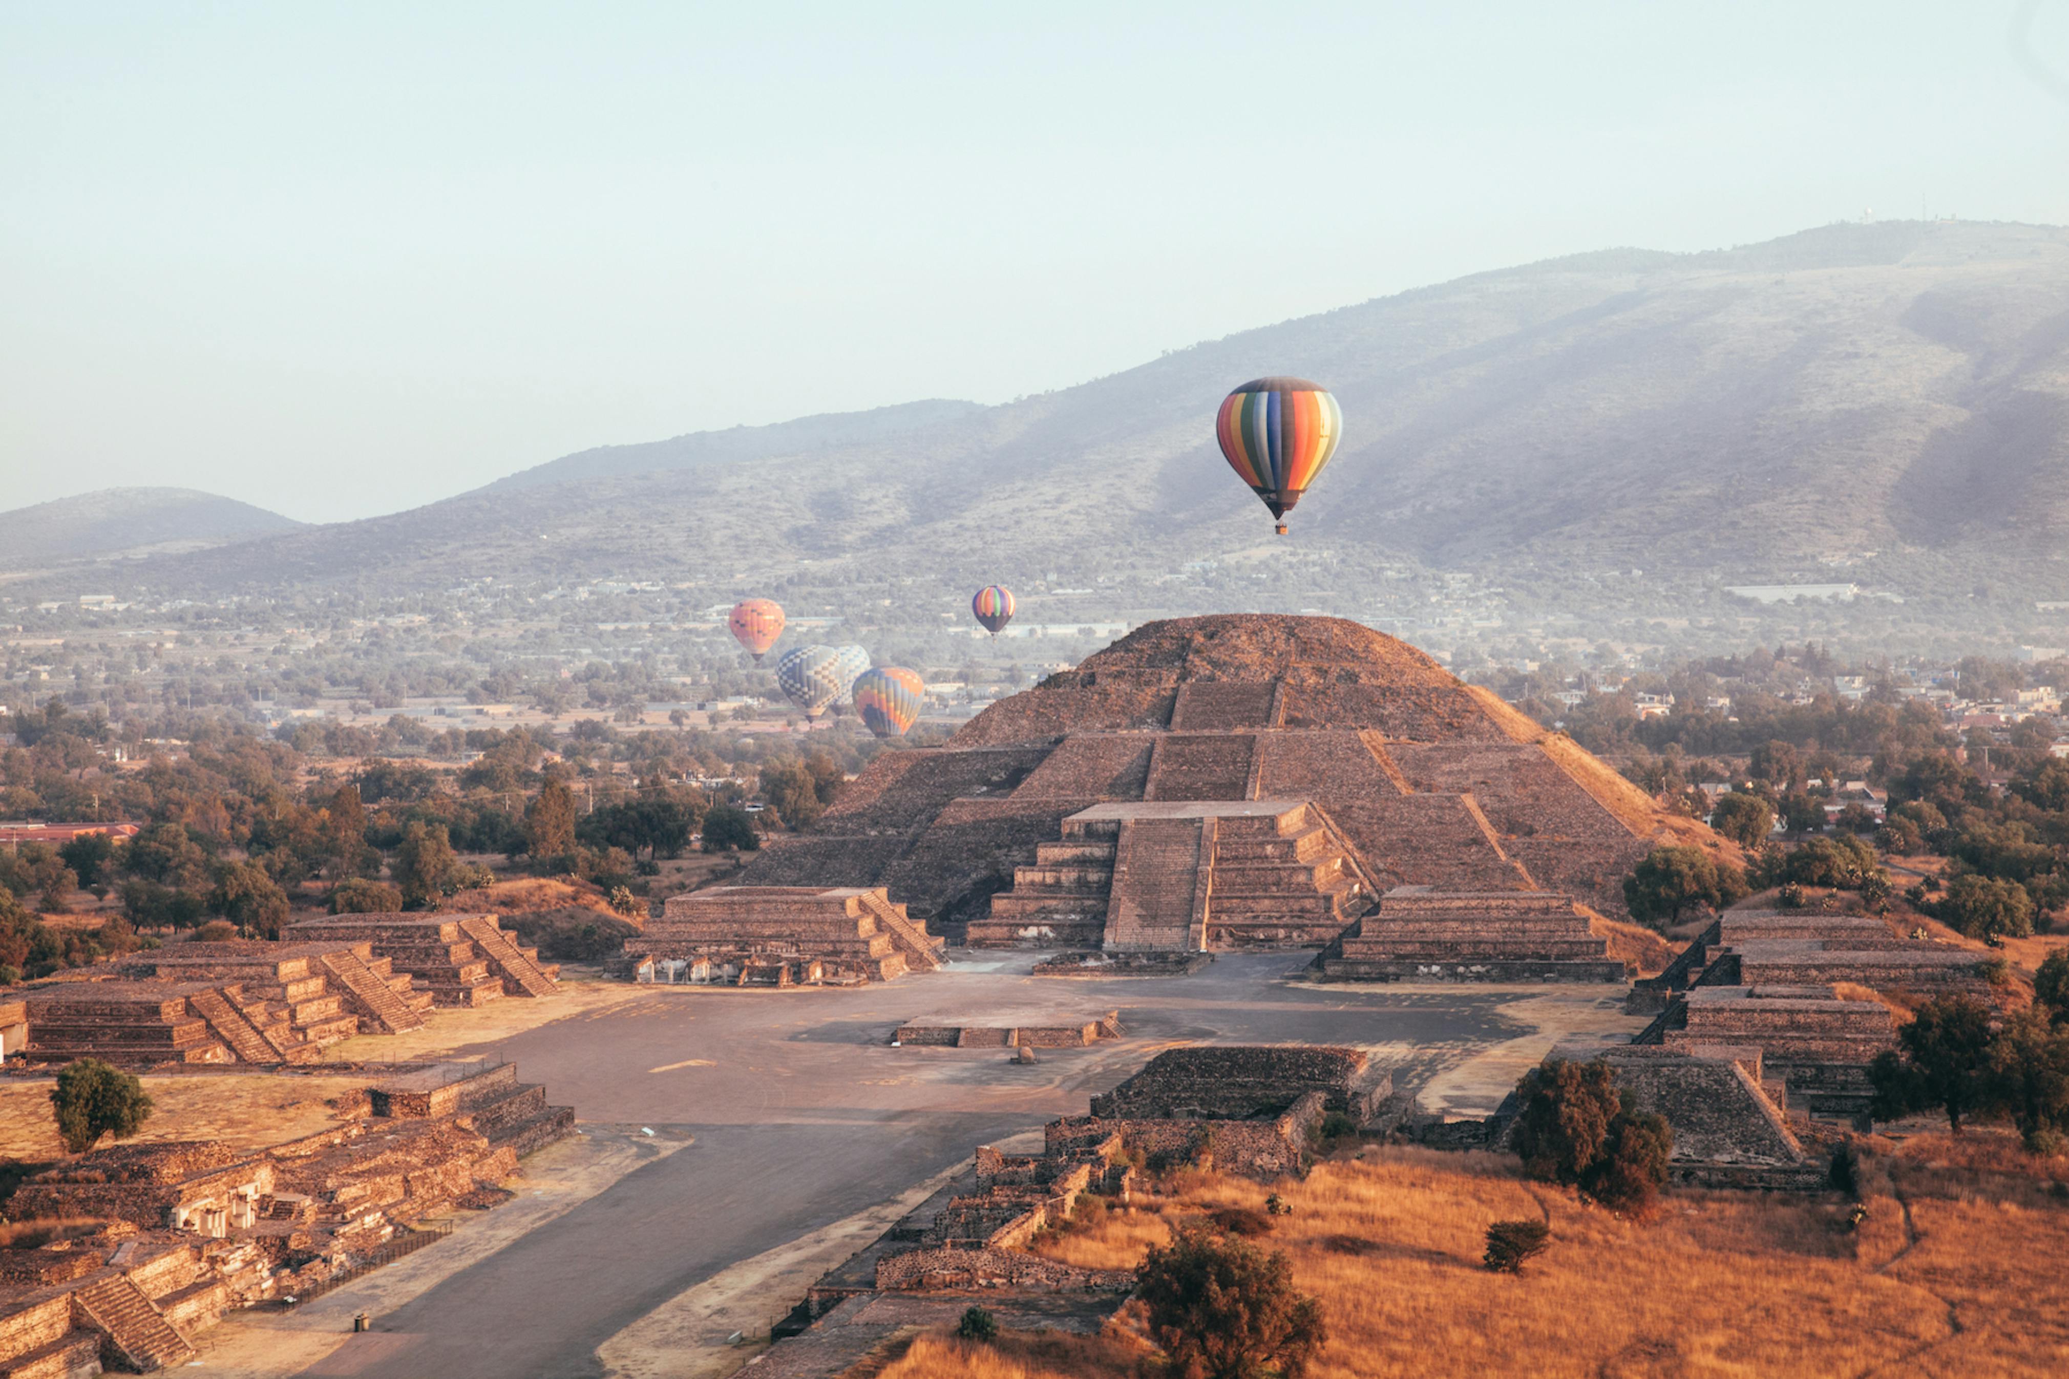
M941 966L941 939L881 887L732 885L670 895L625 951L687 963L687 980L737 986L888 982Z

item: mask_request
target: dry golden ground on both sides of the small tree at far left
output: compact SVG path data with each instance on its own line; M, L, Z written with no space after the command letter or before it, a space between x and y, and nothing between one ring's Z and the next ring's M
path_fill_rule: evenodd
M275 1145L335 1125L325 1102L366 1081L364 1075L308 1073L145 1077L153 1110L137 1139L217 1139L238 1150ZM0 1081L0 1158L41 1162L64 1154L50 1114L54 1083L52 1077Z

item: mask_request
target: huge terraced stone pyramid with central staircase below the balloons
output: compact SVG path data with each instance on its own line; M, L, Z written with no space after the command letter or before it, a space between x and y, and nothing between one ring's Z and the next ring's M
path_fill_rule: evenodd
M1736 858L1407 643L1212 616L1144 624L943 746L883 753L739 883L886 887L952 943L1320 947L1397 887L1622 916L1659 841Z

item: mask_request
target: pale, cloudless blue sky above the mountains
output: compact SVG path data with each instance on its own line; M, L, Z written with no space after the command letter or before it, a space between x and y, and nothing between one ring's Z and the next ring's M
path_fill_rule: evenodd
M0 4L0 509L323 521L1612 244L2069 221L2069 0Z

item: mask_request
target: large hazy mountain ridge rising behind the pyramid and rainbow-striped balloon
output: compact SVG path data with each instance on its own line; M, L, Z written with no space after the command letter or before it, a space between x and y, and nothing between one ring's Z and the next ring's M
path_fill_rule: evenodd
M1343 558L1759 579L1877 552L1877 577L1901 585L1949 558L2046 562L2069 531L2069 232L1912 221L1479 273L999 407L590 451L137 577L250 589L1181 560L1268 531L1212 442L1223 393L1264 372L1320 378L1343 403L1343 451L1293 513L1295 544ZM720 455L753 463L703 463ZM687 467L621 463L666 457Z

